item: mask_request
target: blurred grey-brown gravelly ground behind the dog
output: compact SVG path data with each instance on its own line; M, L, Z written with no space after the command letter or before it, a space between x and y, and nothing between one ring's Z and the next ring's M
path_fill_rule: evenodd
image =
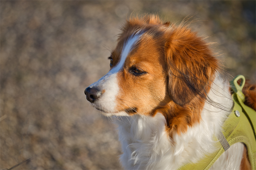
M232 76L255 83L255 1L1 1L0 169L121 169L112 120L85 88L109 70L131 13L158 13L217 42Z

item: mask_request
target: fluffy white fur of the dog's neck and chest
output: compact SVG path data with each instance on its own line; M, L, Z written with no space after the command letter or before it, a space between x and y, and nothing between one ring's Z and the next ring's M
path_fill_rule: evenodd
M233 105L229 85L217 76L208 98L211 104L205 102L200 122L189 127L186 133L174 134L172 138L166 131L166 119L161 113L153 117L134 115L117 118L120 120L116 123L123 150L120 156L123 167L178 169L184 163L196 162L206 153L216 151L214 136L221 132Z

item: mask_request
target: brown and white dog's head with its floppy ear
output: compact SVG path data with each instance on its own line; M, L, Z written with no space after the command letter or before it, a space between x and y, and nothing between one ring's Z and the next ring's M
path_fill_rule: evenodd
M193 108L202 108L218 67L195 32L153 15L125 23L109 60L110 71L86 88L87 100L107 116L161 112L167 124L200 118Z

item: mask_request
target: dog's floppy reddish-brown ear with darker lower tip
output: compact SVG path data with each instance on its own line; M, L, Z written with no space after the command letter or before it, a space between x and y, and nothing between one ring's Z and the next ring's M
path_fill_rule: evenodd
M184 106L195 97L205 99L218 68L207 43L189 28L166 34L165 55L170 98Z

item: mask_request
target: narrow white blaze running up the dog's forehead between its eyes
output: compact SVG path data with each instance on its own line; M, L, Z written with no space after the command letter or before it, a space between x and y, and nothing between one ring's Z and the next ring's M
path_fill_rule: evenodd
M134 45L138 42L140 39L141 34L140 32L136 33L135 35L131 35L126 42L124 42L123 50L121 53L120 61L117 63L117 65L110 70L111 73L118 72L123 67L123 64L129 55L130 51L133 49Z

